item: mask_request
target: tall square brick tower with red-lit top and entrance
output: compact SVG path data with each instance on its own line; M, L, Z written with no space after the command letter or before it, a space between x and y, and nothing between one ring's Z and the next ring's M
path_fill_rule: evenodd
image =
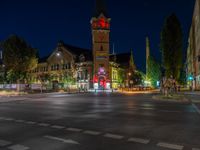
M110 18L104 0L96 0L95 15L91 19L93 50L93 84L95 89L110 89L109 53Z

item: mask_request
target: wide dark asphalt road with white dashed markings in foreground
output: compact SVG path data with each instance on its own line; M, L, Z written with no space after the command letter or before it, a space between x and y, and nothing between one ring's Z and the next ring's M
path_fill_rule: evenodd
M1 150L200 150L200 114L151 94L48 94L0 103Z

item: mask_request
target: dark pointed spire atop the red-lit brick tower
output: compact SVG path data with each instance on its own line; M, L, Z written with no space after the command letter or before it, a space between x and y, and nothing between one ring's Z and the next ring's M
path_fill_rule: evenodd
M95 17L99 17L100 14L103 14L105 17L108 17L106 11L105 0L96 0L96 7L95 7Z

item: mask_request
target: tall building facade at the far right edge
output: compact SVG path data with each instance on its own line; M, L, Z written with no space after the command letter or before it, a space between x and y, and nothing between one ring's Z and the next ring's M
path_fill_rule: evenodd
M200 0L196 0L187 49L187 80L192 89L200 89Z

